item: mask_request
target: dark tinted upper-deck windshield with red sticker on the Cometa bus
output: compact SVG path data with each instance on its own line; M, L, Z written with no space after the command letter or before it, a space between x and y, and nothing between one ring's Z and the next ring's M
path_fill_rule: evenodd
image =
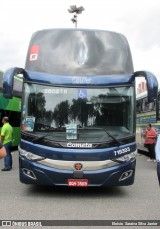
M126 38L89 29L46 29L32 35L25 69L54 75L132 74Z

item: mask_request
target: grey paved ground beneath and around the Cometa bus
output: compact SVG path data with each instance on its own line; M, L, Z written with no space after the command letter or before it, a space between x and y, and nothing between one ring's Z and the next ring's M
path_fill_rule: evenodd
M13 152L13 161L12 171L0 171L2 220L160 220L156 163L147 162L144 155L137 156L134 185L115 188L68 189L21 184L17 151Z

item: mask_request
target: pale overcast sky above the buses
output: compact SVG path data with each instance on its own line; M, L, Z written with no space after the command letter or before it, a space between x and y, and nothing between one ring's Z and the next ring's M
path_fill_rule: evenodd
M124 34L134 70L160 76L160 0L5 0L0 3L0 70L24 67L33 32L74 28L71 5L83 6L78 27Z

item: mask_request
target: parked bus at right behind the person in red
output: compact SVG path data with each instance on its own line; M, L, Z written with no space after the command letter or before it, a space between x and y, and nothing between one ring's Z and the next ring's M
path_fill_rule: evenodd
M146 126L151 123L155 129L157 136L160 134L160 91L157 98L149 102L147 97L147 91L137 94L136 99L136 142L137 148L140 151L148 152L148 149L144 145L143 133L146 130Z

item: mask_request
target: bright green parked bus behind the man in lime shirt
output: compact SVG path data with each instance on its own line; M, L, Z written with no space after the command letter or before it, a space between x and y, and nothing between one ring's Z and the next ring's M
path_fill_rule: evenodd
M0 132L2 128L2 118L9 117L9 122L13 127L13 147L18 146L20 142L20 120L21 120L21 97L22 97L22 79L15 76L13 98L4 98L2 88L3 73L0 72Z

